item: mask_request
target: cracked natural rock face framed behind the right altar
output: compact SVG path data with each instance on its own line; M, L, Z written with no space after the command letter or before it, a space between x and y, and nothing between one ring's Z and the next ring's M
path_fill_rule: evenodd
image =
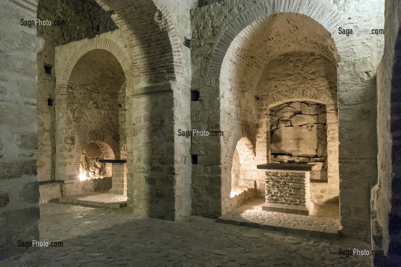
M270 109L270 158L277 163L313 163L311 180L327 181L326 106L288 102Z

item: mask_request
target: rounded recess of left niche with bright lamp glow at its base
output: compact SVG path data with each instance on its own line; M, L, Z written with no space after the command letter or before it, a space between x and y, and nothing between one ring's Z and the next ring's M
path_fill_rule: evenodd
M118 159L125 146L120 142L125 118L119 115L126 77L119 60L105 49L87 51L63 74L68 79L56 93L56 172L75 184L67 194L80 194L93 190L88 180L111 176L99 159Z

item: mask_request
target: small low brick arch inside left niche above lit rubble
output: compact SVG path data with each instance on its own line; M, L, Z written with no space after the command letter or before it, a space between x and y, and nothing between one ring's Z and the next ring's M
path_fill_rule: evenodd
M75 164L80 163L83 150L91 142L95 142L100 147L105 159L114 160L119 158L119 145L114 141L113 137L105 132L93 132L85 135L75 147Z

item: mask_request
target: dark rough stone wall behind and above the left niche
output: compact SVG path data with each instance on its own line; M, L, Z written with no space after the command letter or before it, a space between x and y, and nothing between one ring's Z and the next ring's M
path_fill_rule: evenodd
M65 21L65 26L37 26L37 34L45 40L43 51L38 53L38 180L59 180L55 176L56 121L55 105L49 106L47 99L55 99L55 47L96 34L115 30L117 26L111 15L105 12L95 0L40 0L37 18L41 20ZM99 31L97 26L99 25ZM51 73L45 67L52 68ZM43 190L42 190L43 189ZM41 200L59 197L58 184L41 185Z

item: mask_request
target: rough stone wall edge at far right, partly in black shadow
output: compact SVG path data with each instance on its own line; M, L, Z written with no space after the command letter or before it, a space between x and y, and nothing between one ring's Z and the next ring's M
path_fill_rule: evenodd
M378 183L372 189L372 248L383 249L387 259L375 259L375 266L397 266L400 255L399 216L399 73L401 41L399 1L385 3L385 47L377 69ZM397 226L398 225L398 226ZM395 257L394 257L395 256ZM395 259L393 259L393 257Z

